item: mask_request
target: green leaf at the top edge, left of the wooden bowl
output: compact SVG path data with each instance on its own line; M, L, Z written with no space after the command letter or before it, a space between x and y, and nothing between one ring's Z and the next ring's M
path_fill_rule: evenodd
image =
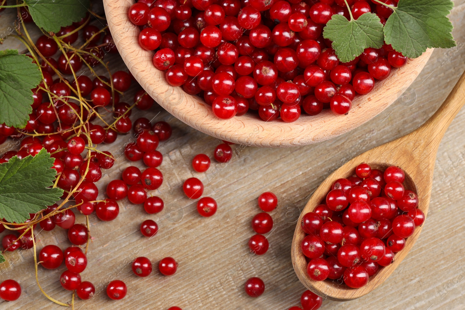
M89 0L25 0L34 23L47 32L57 33L63 26L86 16Z

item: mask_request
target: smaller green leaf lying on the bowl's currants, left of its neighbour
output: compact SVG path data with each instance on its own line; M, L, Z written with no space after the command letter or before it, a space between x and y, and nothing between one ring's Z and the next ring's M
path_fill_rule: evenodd
M374 13L365 13L350 21L335 14L326 24L323 37L332 41L332 48L341 62L349 62L367 47L383 46L383 24Z

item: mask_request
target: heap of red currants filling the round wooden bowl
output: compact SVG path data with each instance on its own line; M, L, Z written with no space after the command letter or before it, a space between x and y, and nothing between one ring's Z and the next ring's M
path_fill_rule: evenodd
M355 19L373 12L385 24L392 13L375 1L347 4ZM341 63L322 36L333 14L350 20L344 0L139 0L128 10L140 46L156 51L153 65L170 85L203 97L220 119L250 109L285 122L302 109L345 114L357 93L371 92L375 80L407 62L385 44Z

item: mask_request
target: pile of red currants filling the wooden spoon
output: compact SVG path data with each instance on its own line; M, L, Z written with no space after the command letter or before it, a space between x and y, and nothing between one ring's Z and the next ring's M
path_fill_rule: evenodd
M402 169L390 166L383 172L363 163L355 172L336 180L326 204L302 218L307 235L301 249L312 280L364 286L380 267L394 262L405 238L425 221L417 194L404 188Z

